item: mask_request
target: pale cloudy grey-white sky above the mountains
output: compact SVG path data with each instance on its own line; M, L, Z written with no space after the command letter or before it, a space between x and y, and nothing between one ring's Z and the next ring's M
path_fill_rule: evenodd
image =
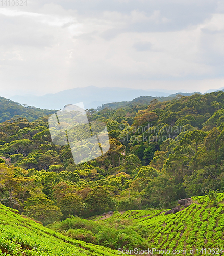
M4 3L2 97L90 85L202 93L224 87L223 0Z

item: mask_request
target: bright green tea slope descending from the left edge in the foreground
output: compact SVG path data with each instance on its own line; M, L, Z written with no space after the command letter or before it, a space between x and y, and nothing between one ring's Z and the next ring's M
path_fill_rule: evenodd
M63 236L0 204L0 255L117 255L116 251Z

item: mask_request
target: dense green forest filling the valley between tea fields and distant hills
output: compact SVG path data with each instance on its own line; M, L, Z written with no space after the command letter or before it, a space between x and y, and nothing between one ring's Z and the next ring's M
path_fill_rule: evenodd
M222 91L86 110L90 123L106 123L110 149L80 164L69 145L52 143L53 112L43 113L0 124L0 203L43 225L107 211L161 211L224 191Z

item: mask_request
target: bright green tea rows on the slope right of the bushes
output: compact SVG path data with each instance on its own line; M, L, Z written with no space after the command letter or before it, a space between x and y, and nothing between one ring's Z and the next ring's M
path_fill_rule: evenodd
M162 210L114 212L104 221L132 219L139 228L148 228L150 248L189 249L223 248L224 193L212 207L208 196L192 197L193 204L177 214L164 215Z

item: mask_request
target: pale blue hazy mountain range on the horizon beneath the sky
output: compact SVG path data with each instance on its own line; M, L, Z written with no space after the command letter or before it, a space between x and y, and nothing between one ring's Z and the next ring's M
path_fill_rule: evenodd
M84 88L73 88L69 90L60 91L54 94L46 94L43 96L27 95L20 96L15 95L10 97L11 100L25 104L28 106L35 106L41 109L62 109L67 104L76 104L83 102L86 109L102 106L112 102L131 101L140 96L151 97L167 97L173 91L158 92L147 91L141 89L122 88L122 87L95 87L88 86ZM176 93L185 96L194 93ZM175 97L176 94L170 95Z

